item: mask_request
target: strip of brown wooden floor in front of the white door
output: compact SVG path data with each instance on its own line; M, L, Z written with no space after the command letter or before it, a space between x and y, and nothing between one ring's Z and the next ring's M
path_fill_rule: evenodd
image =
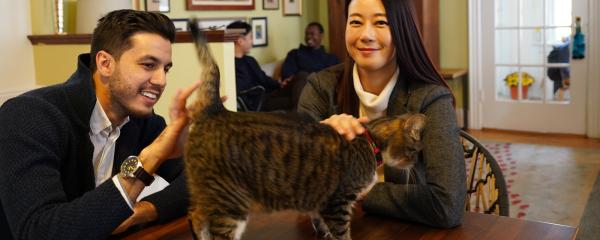
M600 149L600 139L587 138L583 136L487 129L469 130L468 132L479 140Z

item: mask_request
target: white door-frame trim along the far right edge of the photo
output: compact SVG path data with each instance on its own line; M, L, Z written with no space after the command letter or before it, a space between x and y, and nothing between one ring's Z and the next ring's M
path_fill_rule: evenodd
M600 2L589 0L588 48L588 92L587 92L587 131L586 135L600 138Z

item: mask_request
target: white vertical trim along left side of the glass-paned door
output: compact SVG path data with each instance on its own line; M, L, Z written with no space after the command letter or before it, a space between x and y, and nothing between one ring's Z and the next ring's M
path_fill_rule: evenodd
M482 126L482 104L483 90L481 79L483 79L481 49L481 0L469 0L469 128L481 129Z

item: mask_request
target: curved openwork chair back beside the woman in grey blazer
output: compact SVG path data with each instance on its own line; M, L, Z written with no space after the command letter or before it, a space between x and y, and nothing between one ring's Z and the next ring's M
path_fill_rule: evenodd
M508 191L494 156L473 136L460 130L467 167L466 210L508 216Z

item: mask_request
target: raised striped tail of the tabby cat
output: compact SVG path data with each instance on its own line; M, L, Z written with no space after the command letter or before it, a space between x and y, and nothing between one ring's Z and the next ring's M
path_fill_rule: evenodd
M192 18L189 22L189 29L192 32L194 43L196 44L196 52L198 61L200 62L202 83L198 88L198 96L196 99L194 113L211 113L224 109L223 102L219 96L219 66L215 62L208 41L204 33L198 27L198 21Z

